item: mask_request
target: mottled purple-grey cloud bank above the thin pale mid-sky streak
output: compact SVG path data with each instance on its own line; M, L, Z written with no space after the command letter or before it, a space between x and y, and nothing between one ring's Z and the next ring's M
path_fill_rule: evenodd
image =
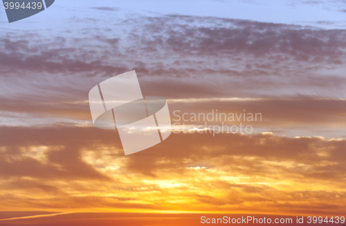
M81 28L78 38L50 39L33 33L30 38L3 34L1 77L8 89L24 83L45 89L45 98L64 92L81 99L96 83L132 69L146 92L164 87L156 92L168 98L335 98L345 87L338 72L345 67L344 30L170 15L129 18L107 35L102 31ZM40 42L33 42L33 37ZM18 97L35 92L20 90Z

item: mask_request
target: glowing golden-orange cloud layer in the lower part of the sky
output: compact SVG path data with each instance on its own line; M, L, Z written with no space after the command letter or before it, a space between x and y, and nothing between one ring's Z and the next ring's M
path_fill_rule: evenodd
M295 214L313 206L315 213L335 214L346 198L345 140L181 133L125 156L111 130L0 131L1 193L15 191L1 199L9 210L17 208L12 200L20 200L22 210L256 211L261 206L268 213L275 208ZM46 162L32 154L39 146L47 147L41 148ZM314 186L320 189L311 191ZM172 195L176 202L167 202Z

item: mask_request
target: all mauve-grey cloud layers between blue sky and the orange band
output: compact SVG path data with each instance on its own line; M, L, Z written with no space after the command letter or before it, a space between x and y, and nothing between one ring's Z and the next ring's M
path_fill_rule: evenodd
M322 131L343 121L344 30L182 15L136 15L112 28L81 23L75 35L1 35L3 125L90 124L91 87L132 69L145 96L262 98L174 103L172 110L247 109L277 130L304 124Z

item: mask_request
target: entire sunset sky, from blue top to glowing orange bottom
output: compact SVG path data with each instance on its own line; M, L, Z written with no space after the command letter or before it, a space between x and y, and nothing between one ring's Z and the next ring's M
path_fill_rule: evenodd
M57 0L11 24L0 10L0 225L342 216L345 15L341 0ZM125 156L88 94L131 70L180 124ZM191 119L210 112L261 120Z

